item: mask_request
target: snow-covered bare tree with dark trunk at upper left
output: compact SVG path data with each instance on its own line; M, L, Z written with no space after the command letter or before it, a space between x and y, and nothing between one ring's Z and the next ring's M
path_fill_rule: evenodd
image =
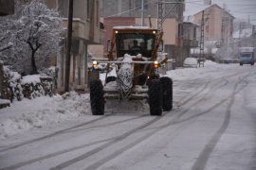
M16 71L37 74L38 70L46 68L49 57L61 48L62 18L42 0L32 0L17 8L22 8L21 12L12 17L13 25L9 26L11 48L2 56Z

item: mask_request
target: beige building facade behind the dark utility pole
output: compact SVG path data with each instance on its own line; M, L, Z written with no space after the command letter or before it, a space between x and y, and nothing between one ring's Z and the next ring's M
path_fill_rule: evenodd
M100 0L75 0L73 10L73 31L70 63L70 90L85 91L88 87L88 54L90 44L102 42L100 25ZM46 0L49 8L58 8L67 27L68 0ZM64 33L66 37L66 32ZM66 41L64 40L64 44ZM64 92L65 45L57 55L55 65L58 68L58 91Z

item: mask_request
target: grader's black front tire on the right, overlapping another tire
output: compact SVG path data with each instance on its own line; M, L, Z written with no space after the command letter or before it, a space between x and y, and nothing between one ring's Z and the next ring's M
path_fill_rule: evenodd
M149 106L151 115L162 115L162 87L160 79L152 79L149 85Z

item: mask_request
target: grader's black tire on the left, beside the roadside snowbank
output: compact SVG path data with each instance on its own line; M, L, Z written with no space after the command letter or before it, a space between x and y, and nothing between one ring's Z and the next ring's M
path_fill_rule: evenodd
M93 115L104 114L103 86L100 79L92 80L90 83L90 101Z

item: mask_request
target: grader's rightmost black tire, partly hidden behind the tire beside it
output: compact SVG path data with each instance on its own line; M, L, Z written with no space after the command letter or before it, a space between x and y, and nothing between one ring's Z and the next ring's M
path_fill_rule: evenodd
M162 85L162 107L163 110L169 111L173 109L173 80L168 76L160 77Z

